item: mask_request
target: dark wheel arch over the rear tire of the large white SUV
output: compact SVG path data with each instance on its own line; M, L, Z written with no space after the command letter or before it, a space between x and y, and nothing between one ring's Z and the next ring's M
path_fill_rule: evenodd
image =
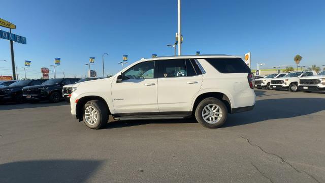
M232 105L231 105L231 100L229 99L229 97L221 92L207 92L207 93L203 93L200 94L195 100L194 103L192 105L192 113L195 113L195 110L197 109L199 103L206 98L209 97L214 97L216 99L221 100L225 106L227 107L228 113L232 112Z

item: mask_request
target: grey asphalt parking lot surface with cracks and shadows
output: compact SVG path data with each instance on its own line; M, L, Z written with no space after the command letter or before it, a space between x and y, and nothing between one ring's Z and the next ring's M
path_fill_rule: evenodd
M325 182L325 95L255 90L219 129L194 119L91 130L66 102L0 106L0 182Z

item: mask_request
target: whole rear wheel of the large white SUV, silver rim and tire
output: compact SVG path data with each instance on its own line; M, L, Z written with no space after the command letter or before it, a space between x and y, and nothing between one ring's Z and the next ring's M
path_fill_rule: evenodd
M202 100L195 111L198 122L207 128L221 127L227 115L228 110L224 103L213 97Z

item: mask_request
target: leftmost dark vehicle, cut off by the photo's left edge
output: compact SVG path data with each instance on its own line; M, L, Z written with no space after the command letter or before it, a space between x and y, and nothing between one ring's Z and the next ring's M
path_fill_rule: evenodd
M46 81L46 79L20 80L10 84L9 86L0 87L0 101L21 103L24 101L24 98L22 97L23 87L40 85L44 81Z

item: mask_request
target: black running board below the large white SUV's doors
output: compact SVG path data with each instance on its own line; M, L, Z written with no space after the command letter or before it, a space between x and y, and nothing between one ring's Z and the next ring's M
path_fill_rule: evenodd
M191 115L188 114L170 114L170 115L134 115L114 117L115 120L142 120L142 119L184 119Z

